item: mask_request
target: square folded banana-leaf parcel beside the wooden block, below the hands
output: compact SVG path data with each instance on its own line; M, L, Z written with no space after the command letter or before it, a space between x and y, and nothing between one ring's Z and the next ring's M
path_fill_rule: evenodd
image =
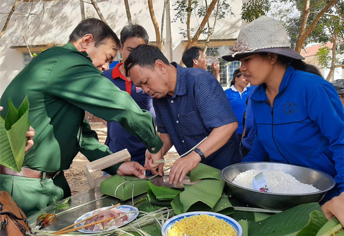
M120 200L128 200L133 195L138 196L146 193L149 180L140 179L134 176L111 176L107 180L100 183L100 193L119 198Z

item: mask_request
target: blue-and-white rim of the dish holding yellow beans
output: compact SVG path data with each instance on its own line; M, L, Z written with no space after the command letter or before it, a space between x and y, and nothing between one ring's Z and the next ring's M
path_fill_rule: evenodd
M236 220L234 220L233 218L228 217L227 215L222 215L219 213L208 212L208 211L192 211L192 212L187 212L187 213L180 214L180 215L175 215L170 220L166 221L165 224L161 228L162 236L166 236L167 233L169 233L169 230L173 226L173 224L175 224L176 222L179 222L180 220L183 220L185 217L191 217L193 215L212 215L212 216L215 216L220 220L224 220L230 226L232 226L234 228L235 232L237 233L237 236L242 235L242 228L241 228L240 224Z

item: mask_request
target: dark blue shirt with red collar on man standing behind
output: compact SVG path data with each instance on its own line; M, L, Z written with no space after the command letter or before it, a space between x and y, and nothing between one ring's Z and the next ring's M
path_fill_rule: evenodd
M148 110L155 118L152 98L142 93L143 90L141 87L136 87L131 80L128 81L125 75L120 73L119 67L121 64L117 64L114 69L104 71L104 76L118 86L120 90L127 91L141 109ZM107 139L105 145L109 147L111 152L118 152L127 148L131 155L131 161L137 161L141 165L144 165L147 148L135 136L129 134L127 130L122 128L120 123L116 121L107 122Z

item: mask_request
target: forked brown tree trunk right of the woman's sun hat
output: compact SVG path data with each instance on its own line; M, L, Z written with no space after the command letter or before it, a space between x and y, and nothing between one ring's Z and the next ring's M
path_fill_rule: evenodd
M297 37L297 44L295 46L295 51L297 51L298 53L301 52L303 43L305 43L305 39L308 37L308 35L310 35L310 32L312 32L312 30L314 29L316 23L318 23L319 19L321 16L323 16L323 14L332 6L334 5L334 3L336 3L336 1L338 0L331 0L329 3L327 3L327 5L325 6L325 8L323 8L323 10L321 10L321 12L319 12L316 15L316 18L314 19L314 21L312 22L312 24L310 25L310 27L306 28L307 25L307 21L308 21L308 16L310 15L310 0L305 0L305 6L303 9L303 14L302 14L302 20L301 20L301 30L300 30L300 34Z

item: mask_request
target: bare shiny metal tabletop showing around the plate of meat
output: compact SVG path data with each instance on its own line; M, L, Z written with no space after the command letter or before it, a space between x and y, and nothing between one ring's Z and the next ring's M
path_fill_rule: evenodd
M140 196L136 196L133 198L134 202L142 198L146 198L147 193L144 193ZM121 205L131 205L133 201L126 200L122 201L118 198L114 198L111 196L103 195L100 193L100 187L95 189L89 189L89 191L85 191L83 193L77 193L76 195L70 197L68 202L69 208L56 213L56 220L50 225L45 227L44 231L59 231L61 228L65 228L74 224L75 220L80 217L81 215L89 212L94 211L96 209L102 207L109 207L111 205L116 205L120 203ZM54 213L54 205L46 207L43 213ZM34 228L36 219L40 215L41 211L37 212L34 215L28 217L29 223Z

